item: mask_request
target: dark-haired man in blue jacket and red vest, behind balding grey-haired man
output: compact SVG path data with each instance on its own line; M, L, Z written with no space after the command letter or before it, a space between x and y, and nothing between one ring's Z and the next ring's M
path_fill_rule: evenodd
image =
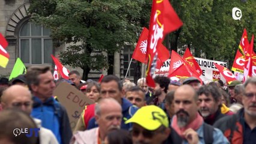
M114 75L108 75L103 77L102 82L100 83L100 97L101 98L114 98L115 100L118 101L118 103L120 103L120 105L122 106L122 114L123 114L123 118L121 121L121 128L125 129L125 130L129 130L132 125L130 124L124 124L124 121L126 119L131 118L134 113L138 110L138 107L133 106L132 103L130 103L130 101L126 100L126 98L124 98L124 91L122 88L122 82L121 80ZM88 106L89 109L90 106ZM95 128L97 127L96 124L96 119L92 118L94 109L87 110L87 112L84 113L84 124L87 127L87 129L91 129L91 128ZM89 116L87 116L87 114ZM86 125L88 124L88 125Z

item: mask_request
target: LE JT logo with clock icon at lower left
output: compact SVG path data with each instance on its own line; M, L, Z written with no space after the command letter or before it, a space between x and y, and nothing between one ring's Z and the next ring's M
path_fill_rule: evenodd
M15 128L13 130L13 134L15 137L19 136L20 134L26 134L26 137L32 137L33 131L35 132L35 137L38 137L38 132L40 128Z

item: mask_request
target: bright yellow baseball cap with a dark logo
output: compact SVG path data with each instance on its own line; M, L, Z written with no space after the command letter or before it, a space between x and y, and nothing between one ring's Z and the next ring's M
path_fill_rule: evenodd
M132 118L128 119L125 123L130 122L141 125L147 130L153 131L161 125L169 127L169 121L166 113L157 106L150 105L144 106L139 109Z

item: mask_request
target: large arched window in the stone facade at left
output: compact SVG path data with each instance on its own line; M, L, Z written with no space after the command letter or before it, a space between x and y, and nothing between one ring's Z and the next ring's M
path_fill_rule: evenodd
M19 33L19 55L24 64L51 64L52 38L50 30L26 22Z

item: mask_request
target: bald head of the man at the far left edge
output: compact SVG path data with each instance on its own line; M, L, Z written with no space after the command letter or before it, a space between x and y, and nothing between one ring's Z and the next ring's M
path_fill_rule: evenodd
M25 86L10 86L3 92L1 104L3 109L18 108L30 115L32 110L31 92Z

